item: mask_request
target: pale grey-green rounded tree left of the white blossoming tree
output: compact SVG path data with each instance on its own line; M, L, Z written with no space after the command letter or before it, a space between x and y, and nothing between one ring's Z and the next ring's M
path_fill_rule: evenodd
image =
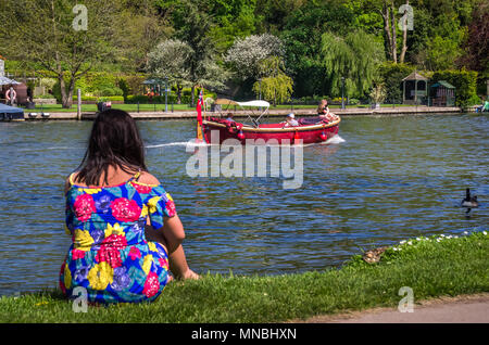
M176 84L177 103L181 103L184 86L191 86L189 60L193 53L190 46L177 39L168 39L148 54L147 71L151 76Z

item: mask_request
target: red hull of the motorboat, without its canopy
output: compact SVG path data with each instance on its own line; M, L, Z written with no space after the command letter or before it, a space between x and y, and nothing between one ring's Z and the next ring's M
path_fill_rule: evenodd
M248 143L266 144L311 144L325 142L338 135L340 118L330 123L314 125L300 125L297 127L286 127L284 124L266 124L258 128L242 126L239 123L228 123L220 119L204 120L203 132L208 143L222 144L225 140L234 139ZM237 125L237 126L236 126ZM240 128L240 126L242 126ZM228 140L229 143L233 141Z

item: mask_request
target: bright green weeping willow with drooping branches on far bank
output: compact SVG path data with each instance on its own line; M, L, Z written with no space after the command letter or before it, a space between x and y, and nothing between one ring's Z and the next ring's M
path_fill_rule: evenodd
M323 34L321 53L334 95L340 93L343 77L347 93L363 97L384 61L383 44L362 30L349 33L344 38Z

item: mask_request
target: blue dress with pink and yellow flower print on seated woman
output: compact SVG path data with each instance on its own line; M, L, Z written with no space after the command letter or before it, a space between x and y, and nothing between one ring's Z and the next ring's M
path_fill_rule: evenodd
M160 184L138 182L139 173L103 188L76 186L72 176L65 230L73 243L61 266L61 290L77 297L74 289L85 288L93 303L154 301L168 281L168 258L160 243L146 240L145 225L149 217L162 228L163 217L176 214L172 197Z

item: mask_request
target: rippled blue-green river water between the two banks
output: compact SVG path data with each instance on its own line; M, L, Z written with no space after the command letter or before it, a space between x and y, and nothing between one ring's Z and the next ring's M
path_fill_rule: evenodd
M195 124L139 122L151 173L173 195L199 272L276 274L340 265L402 239L488 229L489 122L480 115L344 117L303 148L303 183L191 178ZM0 294L53 288L70 245L64 178L90 122L0 123ZM226 154L223 154L223 157ZM244 173L244 171L243 171ZM469 187L480 207L459 207Z

